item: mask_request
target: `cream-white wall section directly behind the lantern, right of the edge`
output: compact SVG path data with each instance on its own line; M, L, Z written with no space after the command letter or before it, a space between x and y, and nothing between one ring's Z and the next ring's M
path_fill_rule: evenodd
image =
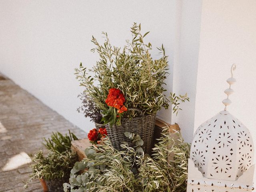
M196 129L224 109L222 100L236 63L228 111L250 130L256 146L256 1L205 0L202 3L196 85ZM256 157L256 156L254 156ZM256 179L254 177L254 183Z

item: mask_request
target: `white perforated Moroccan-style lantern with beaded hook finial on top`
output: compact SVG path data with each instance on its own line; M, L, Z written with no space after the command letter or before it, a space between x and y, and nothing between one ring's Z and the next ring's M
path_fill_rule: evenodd
M196 130L188 163L187 192L231 192L253 190L254 148L249 130L226 107L234 91L232 77L224 92L225 109Z

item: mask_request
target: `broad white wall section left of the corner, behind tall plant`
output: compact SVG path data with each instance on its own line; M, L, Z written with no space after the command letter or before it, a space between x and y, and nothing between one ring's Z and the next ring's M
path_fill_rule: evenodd
M70 122L89 131L93 124L76 112L82 91L74 68L92 67L98 56L90 52L92 35L108 32L112 44L125 45L130 26L140 22L153 47L163 43L172 64L179 1L119 0L2 0L0 1L0 71ZM153 56L157 57L154 49ZM170 122L170 110L160 112Z

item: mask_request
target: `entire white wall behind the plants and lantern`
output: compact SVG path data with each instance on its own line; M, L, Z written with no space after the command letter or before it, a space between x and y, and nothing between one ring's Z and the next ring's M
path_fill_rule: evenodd
M140 22L150 31L153 47L162 43L169 55L168 92L188 93L190 103L176 117L171 110L158 116L177 122L192 141L194 130L223 109L225 82L236 63L236 91L230 112L252 129L256 116L256 5L254 0L60 1L0 2L0 71L83 130L93 124L76 112L82 91L74 68L92 67L94 35L108 32L112 44L123 46L130 26ZM158 50L152 51L157 58ZM252 130L255 136L256 131Z

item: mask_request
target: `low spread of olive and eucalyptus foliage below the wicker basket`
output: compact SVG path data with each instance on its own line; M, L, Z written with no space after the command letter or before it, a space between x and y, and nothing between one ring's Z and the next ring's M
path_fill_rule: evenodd
M135 134L125 133L140 144ZM122 144L115 150L108 138L103 144L86 149L86 156L76 162L65 192L183 192L186 190L190 145L177 133L174 139L168 128L163 130L152 157ZM172 154L172 158L168 158ZM80 170L88 168L83 174Z

